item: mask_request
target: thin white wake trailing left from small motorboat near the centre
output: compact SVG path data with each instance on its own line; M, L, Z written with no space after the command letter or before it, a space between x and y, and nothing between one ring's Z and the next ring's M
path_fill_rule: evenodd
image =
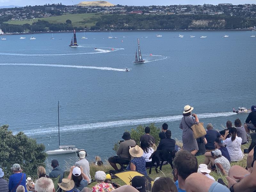
M112 71L125 71L125 69L111 68L111 67L94 67L81 65L58 65L58 64L39 64L39 63L0 63L1 65L21 65L21 66L44 66L44 67L68 67L68 68L84 68L84 69L101 69Z

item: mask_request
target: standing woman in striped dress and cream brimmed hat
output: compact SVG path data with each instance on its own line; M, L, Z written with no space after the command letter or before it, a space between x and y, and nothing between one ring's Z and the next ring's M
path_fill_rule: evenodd
M195 122L191 115L191 111L193 107L186 105L183 111L183 117L180 121L180 129L182 129L182 144L183 150L186 150L193 155L195 155L198 151L198 145L196 139L194 138L194 132L191 130L191 126L194 124L198 124L199 120L196 114L192 114L195 117Z

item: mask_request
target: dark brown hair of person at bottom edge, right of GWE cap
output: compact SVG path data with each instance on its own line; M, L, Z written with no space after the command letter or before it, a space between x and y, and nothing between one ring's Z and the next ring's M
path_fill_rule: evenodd
M160 177L154 182L151 192L178 192L170 177Z

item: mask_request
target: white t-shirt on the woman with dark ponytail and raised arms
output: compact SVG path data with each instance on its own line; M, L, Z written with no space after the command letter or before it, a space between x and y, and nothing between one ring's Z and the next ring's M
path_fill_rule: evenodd
M237 137L234 141L231 140L231 137L223 141L224 145L227 145L228 153L231 161L240 161L243 159L244 154L241 150L242 138Z

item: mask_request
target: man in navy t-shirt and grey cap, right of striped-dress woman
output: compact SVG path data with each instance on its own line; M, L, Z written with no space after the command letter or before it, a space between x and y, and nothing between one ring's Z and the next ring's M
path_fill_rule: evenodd
M207 152L209 152L215 149L214 141L219 137L220 138L223 138L223 137L220 135L218 131L213 130L211 123L207 124L206 129L207 131L206 131L205 139L207 140L207 143L205 144L205 149Z

